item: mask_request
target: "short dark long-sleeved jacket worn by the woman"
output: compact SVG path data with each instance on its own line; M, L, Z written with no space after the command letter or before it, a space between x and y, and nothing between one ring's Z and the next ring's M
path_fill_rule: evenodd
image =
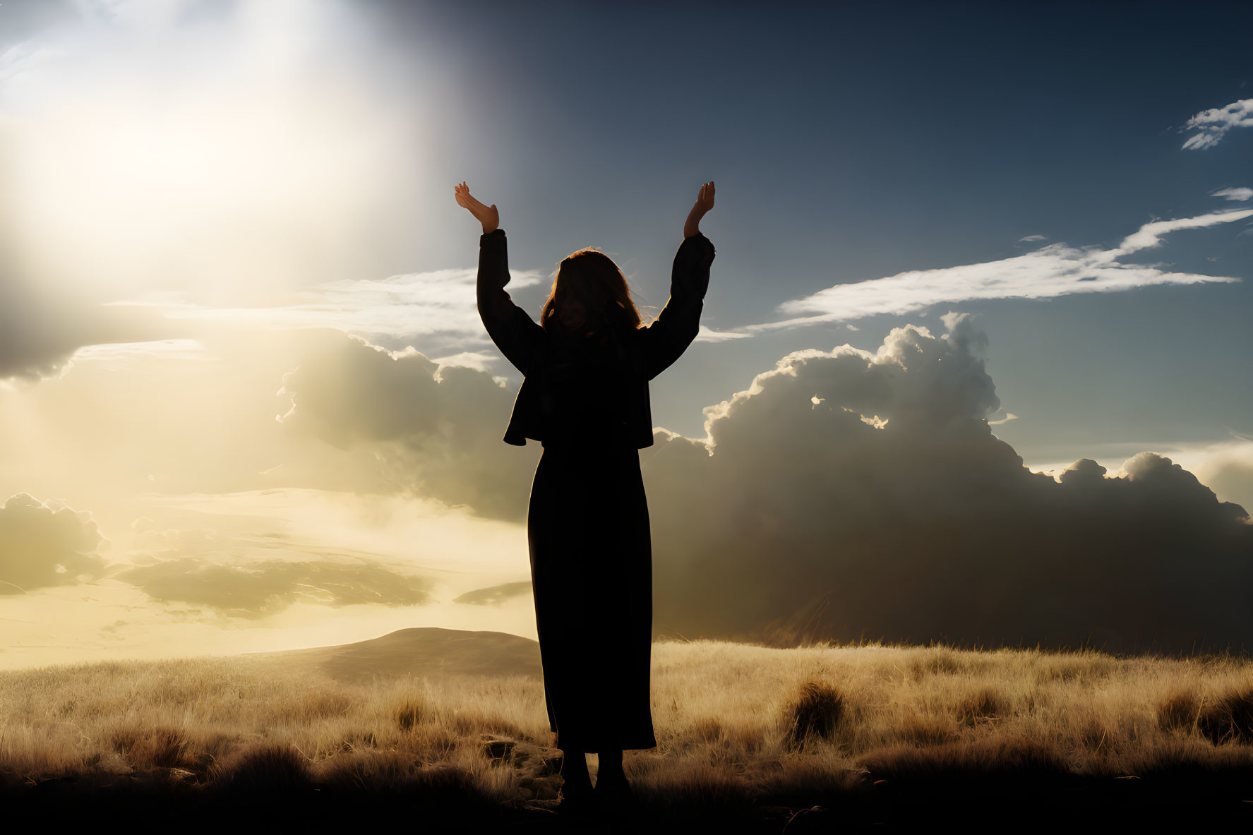
M697 337L713 258L713 243L704 234L685 238L674 255L670 298L657 321L581 349L570 337L545 331L505 292L505 231L480 236L479 316L496 347L524 376L505 443L524 446L530 438L544 444L590 440L652 446L648 381Z

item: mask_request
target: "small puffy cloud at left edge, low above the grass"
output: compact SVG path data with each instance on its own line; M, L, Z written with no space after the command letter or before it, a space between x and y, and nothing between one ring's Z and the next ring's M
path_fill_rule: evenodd
M91 514L18 493L0 504L0 596L98 577L107 543Z

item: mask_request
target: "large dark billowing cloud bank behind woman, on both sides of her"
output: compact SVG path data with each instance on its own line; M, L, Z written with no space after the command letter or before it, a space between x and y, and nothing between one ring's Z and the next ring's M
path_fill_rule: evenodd
M1124 473L1032 474L961 316L875 352L798 351L705 410L708 443L642 450L654 624L687 637L816 636L1106 649L1253 646L1253 525L1141 453ZM447 375L449 370L445 370ZM512 392L342 336L288 376L286 420L360 444L436 498L521 520L534 459L501 443ZM821 609L821 613L819 613Z

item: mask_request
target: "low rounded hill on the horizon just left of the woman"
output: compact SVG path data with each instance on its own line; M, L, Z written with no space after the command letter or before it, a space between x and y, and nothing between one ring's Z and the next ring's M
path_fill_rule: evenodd
M541 676L540 644L505 632L400 629L336 647L252 652L283 670L318 670L336 681L376 676Z

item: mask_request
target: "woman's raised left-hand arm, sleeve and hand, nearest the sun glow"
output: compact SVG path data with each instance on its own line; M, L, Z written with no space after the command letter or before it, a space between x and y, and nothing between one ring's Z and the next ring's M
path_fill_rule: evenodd
M514 367L529 375L540 351L546 345L544 328L514 303L505 292L509 283L509 248L505 231L500 228L500 214L495 206L487 207L470 197L465 183L456 187L457 203L470 209L482 223L479 237L479 277L476 296L479 317L487 328L487 336L496 344Z

